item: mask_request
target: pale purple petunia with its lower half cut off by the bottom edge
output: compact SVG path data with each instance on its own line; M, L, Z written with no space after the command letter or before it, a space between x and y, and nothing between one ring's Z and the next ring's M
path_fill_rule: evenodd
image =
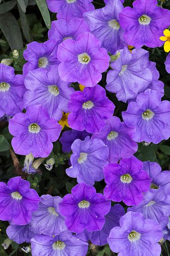
M86 256L88 243L63 231L58 236L34 236L31 239L32 256Z

